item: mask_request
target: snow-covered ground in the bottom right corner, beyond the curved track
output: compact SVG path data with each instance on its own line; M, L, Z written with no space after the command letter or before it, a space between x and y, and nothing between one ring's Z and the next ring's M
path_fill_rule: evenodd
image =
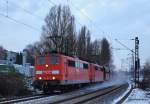
M148 92L141 89L133 89L123 104L150 104Z

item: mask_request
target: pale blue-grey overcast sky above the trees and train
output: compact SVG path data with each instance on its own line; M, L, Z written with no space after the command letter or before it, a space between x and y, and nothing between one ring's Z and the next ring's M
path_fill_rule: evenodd
M150 57L150 0L0 0L0 45L11 51L22 51L26 45L40 39L41 27L54 4L68 4L76 19L76 28L86 25L92 40L106 37L112 47L134 48L135 36L140 40L140 58L144 63ZM49 2L52 1L52 2ZM67 2L68 1L68 2ZM24 8L35 16L26 13ZM32 26L31 29L2 16L9 16ZM127 62L130 51L113 50L117 68Z

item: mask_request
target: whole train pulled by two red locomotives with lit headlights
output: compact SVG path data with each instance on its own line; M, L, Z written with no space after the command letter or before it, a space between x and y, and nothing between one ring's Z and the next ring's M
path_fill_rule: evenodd
M44 92L65 90L110 79L109 67L63 54L36 56L34 87Z

